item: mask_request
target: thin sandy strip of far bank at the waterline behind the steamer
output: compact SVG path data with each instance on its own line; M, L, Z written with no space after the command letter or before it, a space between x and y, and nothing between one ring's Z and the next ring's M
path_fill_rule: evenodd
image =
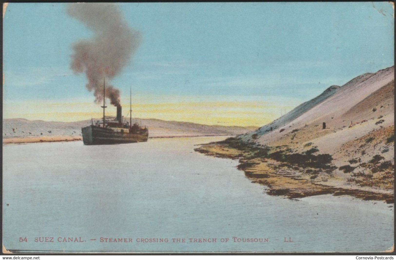
M190 138L190 137L210 137L210 136L230 136L229 134L222 135L164 135L164 136L152 136L149 139L156 138ZM232 136L232 135L231 135ZM3 138L3 145L8 144L23 144L23 143L53 143L53 142L70 142L70 141L82 141L82 136L42 136L42 137L16 137L16 138Z

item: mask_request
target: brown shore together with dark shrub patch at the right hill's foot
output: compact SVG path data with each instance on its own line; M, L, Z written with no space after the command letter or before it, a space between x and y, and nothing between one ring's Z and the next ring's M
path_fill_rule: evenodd
M270 195L301 198L319 194L352 195L365 200L386 200L393 202L389 193L359 190L354 188L325 185L334 178L332 157L320 154L314 147L303 153L293 153L288 146L266 147L255 143L242 143L236 138L228 138L218 143L210 143L195 151L210 156L238 159L239 170L255 183L268 187Z

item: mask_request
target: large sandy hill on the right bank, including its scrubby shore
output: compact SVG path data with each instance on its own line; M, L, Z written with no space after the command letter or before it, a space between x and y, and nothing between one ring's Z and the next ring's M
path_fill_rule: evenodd
M270 194L354 189L362 198L393 198L394 66L331 86L270 124L197 150L239 158Z

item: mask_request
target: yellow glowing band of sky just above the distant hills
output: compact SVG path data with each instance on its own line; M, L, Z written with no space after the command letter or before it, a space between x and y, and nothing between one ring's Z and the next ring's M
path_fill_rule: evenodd
M265 101L135 103L132 105L132 117L209 125L262 126L278 118L281 107L287 111L293 108ZM124 117L129 117L128 113L129 106L123 106ZM106 115L115 114L116 107L106 109ZM4 118L72 122L102 116L101 107L90 102L25 101L8 102L3 107Z

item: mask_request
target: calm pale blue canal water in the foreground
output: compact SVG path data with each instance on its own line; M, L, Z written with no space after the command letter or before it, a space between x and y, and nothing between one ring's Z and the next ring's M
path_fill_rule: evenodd
M265 194L236 160L194 152L224 137L3 145L9 250L367 252L394 243L394 207ZM47 242L46 242L47 241Z

